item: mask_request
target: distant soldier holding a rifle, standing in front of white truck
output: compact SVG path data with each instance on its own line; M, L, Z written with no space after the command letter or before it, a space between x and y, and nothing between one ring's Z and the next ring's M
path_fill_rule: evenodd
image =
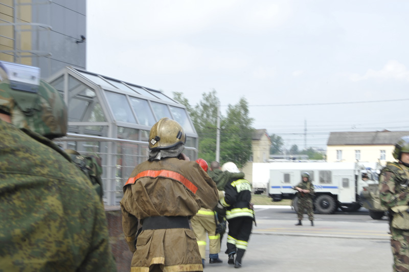
M294 187L294 190L297 190L298 197L298 223L296 226L301 226L303 223L304 210L306 210L308 219L311 221L311 226L314 225L314 206L312 204L312 199L314 197L314 185L310 180L310 174L303 172L301 175L302 181Z

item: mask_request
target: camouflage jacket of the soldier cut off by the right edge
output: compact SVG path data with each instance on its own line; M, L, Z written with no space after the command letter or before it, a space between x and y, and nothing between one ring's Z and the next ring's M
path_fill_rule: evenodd
M398 162L388 162L379 177L381 205L387 208L407 205L409 201L409 168Z

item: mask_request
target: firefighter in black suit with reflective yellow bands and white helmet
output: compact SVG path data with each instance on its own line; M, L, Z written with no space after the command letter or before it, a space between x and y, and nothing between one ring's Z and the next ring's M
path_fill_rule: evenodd
M226 250L226 254L229 255L228 263L240 268L254 221L254 211L250 202L252 185L244 179L244 173L240 172L233 162L224 163L221 170L237 174L231 176L231 179L225 185L225 196L219 200L215 210L220 214L225 213L229 223Z

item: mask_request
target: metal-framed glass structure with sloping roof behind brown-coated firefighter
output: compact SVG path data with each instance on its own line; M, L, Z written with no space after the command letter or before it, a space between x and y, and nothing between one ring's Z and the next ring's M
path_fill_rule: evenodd
M119 205L132 170L148 158L150 128L162 117L184 128L184 153L197 158L198 136L186 107L163 92L74 67L65 67L47 81L68 107L68 133L59 143L102 158L106 205Z

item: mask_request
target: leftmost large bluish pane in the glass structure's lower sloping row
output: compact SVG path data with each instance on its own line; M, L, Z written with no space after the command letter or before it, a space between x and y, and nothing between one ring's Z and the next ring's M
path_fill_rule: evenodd
M137 122L125 95L108 91L105 91L105 94L115 120L128 123Z

